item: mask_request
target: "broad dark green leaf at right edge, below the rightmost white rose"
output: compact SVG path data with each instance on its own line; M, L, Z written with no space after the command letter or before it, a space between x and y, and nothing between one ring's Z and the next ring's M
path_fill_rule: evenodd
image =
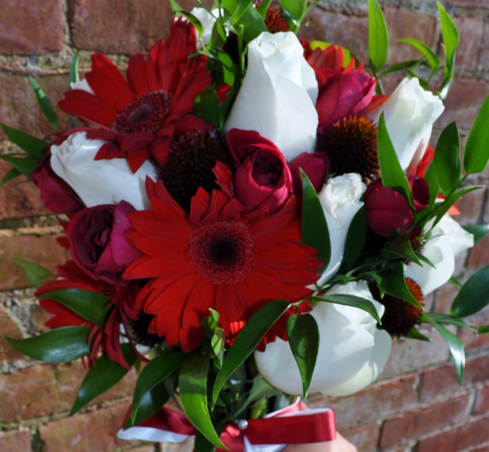
M465 283L453 301L451 314L467 317L489 304L489 266L481 268Z

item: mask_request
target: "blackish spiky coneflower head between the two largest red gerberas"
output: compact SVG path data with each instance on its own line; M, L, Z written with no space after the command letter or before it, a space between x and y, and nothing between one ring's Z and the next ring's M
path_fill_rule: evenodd
M231 164L229 150L217 130L186 132L170 145L159 178L173 199L188 211L199 187L208 192L219 188L212 172L217 161Z

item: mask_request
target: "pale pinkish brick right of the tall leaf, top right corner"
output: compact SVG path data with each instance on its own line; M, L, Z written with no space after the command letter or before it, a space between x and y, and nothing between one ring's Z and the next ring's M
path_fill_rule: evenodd
M482 46L484 22L481 17L454 18L460 32L460 44L455 57L457 67L472 70L476 67Z

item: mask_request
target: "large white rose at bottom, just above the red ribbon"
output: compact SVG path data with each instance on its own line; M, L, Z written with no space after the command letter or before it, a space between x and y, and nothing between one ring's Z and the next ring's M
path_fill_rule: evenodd
M364 281L335 286L327 292L339 293L368 299L380 317L384 313ZM377 321L370 314L350 306L319 302L311 315L319 328L319 351L310 392L348 395L372 383L389 358L389 334L377 329ZM302 380L288 342L276 339L264 352L255 351L254 357L268 383L289 394L302 393Z

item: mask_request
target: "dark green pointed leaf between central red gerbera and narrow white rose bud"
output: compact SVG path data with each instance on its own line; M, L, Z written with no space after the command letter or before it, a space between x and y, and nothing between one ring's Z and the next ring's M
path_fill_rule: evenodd
M321 274L331 258L331 242L328 223L324 216L321 201L317 196L314 186L302 171L302 243L317 249L317 258L323 263L323 266L317 271Z

